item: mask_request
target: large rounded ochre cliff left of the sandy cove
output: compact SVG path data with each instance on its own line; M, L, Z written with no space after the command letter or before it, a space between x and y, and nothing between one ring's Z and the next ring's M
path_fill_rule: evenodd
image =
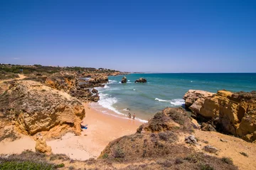
M80 135L80 121L85 117L77 98L29 80L12 82L0 96L0 105L3 120L12 121L25 135L49 130L55 137L67 131Z

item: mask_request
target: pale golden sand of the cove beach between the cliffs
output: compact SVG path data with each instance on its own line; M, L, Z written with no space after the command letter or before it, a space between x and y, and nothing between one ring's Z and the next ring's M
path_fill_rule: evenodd
M87 129L82 130L80 136L68 132L58 140L47 141L47 144L52 147L53 154L66 154L71 159L79 160L96 158L110 141L133 134L141 124L138 120L118 118L96 111L89 103L85 103L82 125L87 125ZM20 154L25 149L34 151L35 145L32 137L23 136L14 142L0 142L0 154Z

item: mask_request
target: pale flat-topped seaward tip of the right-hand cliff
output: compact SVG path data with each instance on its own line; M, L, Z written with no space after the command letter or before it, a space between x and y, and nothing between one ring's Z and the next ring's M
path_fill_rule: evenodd
M189 108L194 113L199 113L205 98L211 96L213 96L213 93L208 91L188 90L183 96L183 99L185 100L186 108Z

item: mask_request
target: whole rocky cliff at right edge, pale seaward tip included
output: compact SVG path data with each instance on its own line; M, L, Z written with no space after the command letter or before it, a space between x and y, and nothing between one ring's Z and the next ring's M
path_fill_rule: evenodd
M256 142L256 91L222 90L213 94L189 90L183 98L186 108L208 123L202 124L206 130L217 128L248 142Z

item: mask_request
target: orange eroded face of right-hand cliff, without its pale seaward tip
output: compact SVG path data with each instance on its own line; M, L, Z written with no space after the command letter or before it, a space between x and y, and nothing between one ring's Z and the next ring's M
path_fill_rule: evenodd
M256 91L250 93L218 91L217 94L201 97L200 100L203 100L201 107L197 110L192 108L191 111L215 120L222 126L224 132L241 137L248 142L255 142Z

